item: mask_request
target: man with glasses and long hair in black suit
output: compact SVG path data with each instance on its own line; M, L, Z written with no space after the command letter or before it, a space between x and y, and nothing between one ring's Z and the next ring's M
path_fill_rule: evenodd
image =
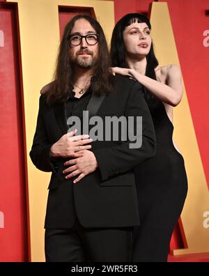
M100 24L88 15L73 17L61 40L54 82L42 89L30 153L38 169L52 171L46 261L130 261L132 227L139 225L132 169L154 155L155 132L142 86L114 77L109 68ZM89 137L93 128L86 133L88 122L75 130L72 118L86 122L84 111L100 117L100 139ZM142 116L142 145L132 146L130 136L116 140L115 133L105 139L109 129L101 123L113 115L134 118L138 136Z

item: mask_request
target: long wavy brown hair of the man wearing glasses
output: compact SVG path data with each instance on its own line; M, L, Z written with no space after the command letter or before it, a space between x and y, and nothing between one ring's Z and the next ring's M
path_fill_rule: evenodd
M65 102L70 91L73 89L74 72L72 63L70 63L69 42L70 35L75 22L79 19L87 20L99 34L98 38L98 62L94 68L93 81L91 89L96 95L109 93L113 89L112 75L110 72L111 62L107 47L107 40L100 24L90 15L76 15L65 26L63 38L59 47L59 55L56 62L54 73L54 82L47 89L47 102Z

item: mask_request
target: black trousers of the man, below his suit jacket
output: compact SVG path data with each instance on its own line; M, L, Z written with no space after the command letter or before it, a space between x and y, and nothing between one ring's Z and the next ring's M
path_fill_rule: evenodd
M45 229L47 262L131 261L132 227Z

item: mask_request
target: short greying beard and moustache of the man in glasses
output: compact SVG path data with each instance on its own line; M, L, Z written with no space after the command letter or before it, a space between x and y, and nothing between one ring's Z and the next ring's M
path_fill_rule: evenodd
M88 54L88 56L82 56L84 53ZM89 50L83 50L77 52L75 56L71 56L71 61L82 68L92 68L95 66L98 59L93 57L93 52Z

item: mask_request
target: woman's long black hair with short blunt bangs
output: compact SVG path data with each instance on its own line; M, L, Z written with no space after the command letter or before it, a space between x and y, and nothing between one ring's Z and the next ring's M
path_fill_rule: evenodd
M121 20L119 20L114 27L114 31L111 37L111 66L112 67L121 67L121 68L129 68L126 63L126 56L125 56L125 45L123 42L123 31L127 26L130 26L132 23L146 23L151 29L151 24L148 18L141 13L128 13L127 15L123 16ZM153 43L150 47L150 52L146 56L147 65L146 65L146 76L150 77L151 79L156 80L155 75L155 68L158 66L158 61L154 53ZM153 95L147 93L145 89L146 100L150 101L153 98Z

